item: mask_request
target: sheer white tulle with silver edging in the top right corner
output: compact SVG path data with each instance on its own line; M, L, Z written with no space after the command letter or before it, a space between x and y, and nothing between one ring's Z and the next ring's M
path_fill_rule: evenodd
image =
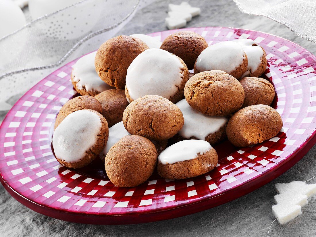
M300 37L316 43L315 0L234 0L240 11L279 22Z

